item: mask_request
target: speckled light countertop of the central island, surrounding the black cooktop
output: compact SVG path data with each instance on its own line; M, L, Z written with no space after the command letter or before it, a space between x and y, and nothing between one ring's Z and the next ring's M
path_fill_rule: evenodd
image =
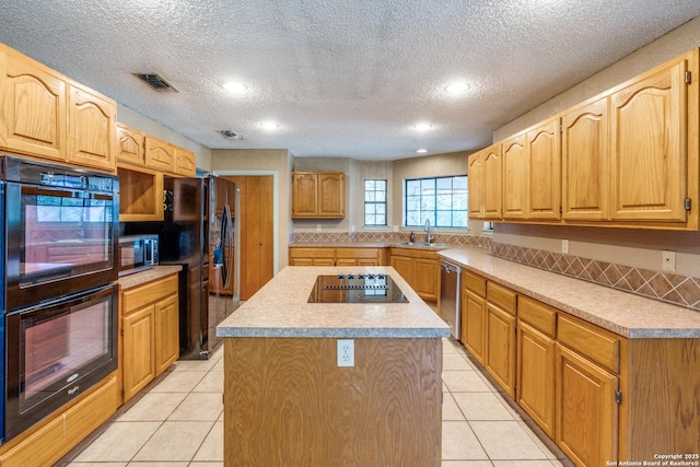
M409 303L307 303L319 275L389 275ZM450 327L390 267L294 267L272 278L217 327L218 337L441 338Z

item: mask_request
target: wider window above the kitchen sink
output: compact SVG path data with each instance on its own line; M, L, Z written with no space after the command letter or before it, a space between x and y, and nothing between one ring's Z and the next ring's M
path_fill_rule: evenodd
M406 226L467 227L467 176L405 180Z

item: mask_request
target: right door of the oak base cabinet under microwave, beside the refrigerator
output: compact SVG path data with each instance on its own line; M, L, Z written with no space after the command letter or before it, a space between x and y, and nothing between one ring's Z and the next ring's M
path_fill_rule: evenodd
M158 302L153 307L155 334L155 376L179 357L179 308L177 295Z

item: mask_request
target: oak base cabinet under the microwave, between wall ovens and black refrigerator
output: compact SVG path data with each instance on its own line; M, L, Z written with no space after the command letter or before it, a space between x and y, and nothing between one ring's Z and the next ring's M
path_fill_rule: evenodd
M179 355L177 275L122 291L120 305L126 402Z

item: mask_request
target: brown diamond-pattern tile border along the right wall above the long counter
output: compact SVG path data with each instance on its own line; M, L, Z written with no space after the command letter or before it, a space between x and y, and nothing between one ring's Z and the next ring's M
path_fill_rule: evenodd
M493 242L493 256L700 311L700 278Z

